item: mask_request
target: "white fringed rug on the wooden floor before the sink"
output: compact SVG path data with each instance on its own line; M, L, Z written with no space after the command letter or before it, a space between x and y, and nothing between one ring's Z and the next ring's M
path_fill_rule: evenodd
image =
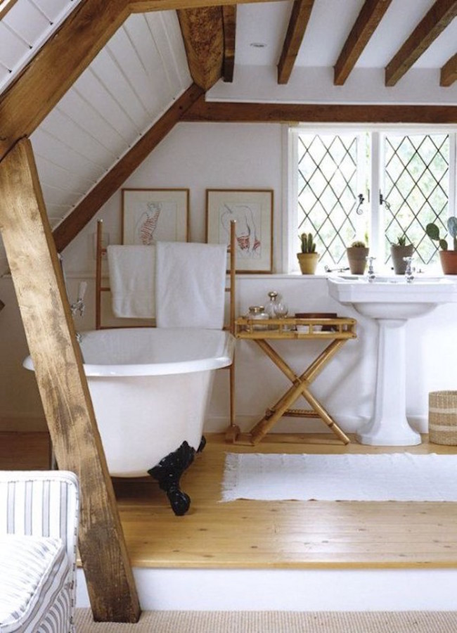
M226 454L222 501L457 501L457 455Z

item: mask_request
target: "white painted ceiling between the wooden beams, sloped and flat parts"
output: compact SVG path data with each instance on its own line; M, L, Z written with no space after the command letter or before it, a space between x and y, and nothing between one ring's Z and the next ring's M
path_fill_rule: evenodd
M1 4L1 3L0 3ZM78 0L17 0L0 21L0 91L74 10ZM457 20L439 35L397 86L384 68L434 0L392 0L345 86L333 66L363 0L316 0L290 81L276 65L292 1L237 8L233 83L208 100L295 103L457 103L457 82L439 87L439 69L457 52ZM51 225L56 226L190 85L174 11L131 15L98 53L31 140Z

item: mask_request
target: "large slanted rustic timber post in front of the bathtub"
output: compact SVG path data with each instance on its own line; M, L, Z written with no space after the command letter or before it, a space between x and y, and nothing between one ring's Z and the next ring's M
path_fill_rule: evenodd
M0 162L0 230L60 468L79 476L79 553L94 620L136 622L140 606L98 433L32 145Z

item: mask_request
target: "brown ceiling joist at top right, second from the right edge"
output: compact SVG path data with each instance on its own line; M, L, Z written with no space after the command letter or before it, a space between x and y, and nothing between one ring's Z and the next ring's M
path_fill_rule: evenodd
M457 0L437 0L385 68L385 85L394 86L457 15Z

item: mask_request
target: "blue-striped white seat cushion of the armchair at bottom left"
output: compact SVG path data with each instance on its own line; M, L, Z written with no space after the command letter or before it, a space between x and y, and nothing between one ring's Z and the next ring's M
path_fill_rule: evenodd
M71 630L71 609L65 607L66 602L71 607L70 585L71 568L61 539L0 536L1 633ZM56 601L56 625L42 629L41 621Z

